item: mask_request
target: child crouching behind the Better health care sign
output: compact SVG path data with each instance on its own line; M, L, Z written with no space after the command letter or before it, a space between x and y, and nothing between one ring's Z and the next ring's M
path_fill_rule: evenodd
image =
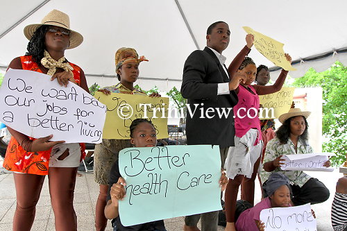
M130 143L135 147L154 147L157 144L155 128L153 123L147 119L135 119L130 125ZM124 227L119 219L118 200L126 196L126 182L119 173L118 160L113 164L108 182L107 205L105 206L105 217L114 219L115 231L125 230L156 230L165 231L164 221L153 221L139 225Z

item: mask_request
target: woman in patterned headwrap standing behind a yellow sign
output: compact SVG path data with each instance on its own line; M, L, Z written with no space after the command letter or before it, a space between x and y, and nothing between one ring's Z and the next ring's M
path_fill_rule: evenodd
M139 57L135 49L122 47L115 55L116 74L119 80L117 85L105 87L99 92L103 94L122 93L140 94L146 93L136 89L134 83L139 76L139 63L148 61L144 56ZM160 97L158 93L152 93L151 97ZM130 139L103 139L101 144L96 144L94 150L94 180L100 186L99 197L96 201L95 228L96 231L105 230L107 221L104 213L106 197L108 194L108 178L112 164L118 160L118 153L123 148L129 148Z

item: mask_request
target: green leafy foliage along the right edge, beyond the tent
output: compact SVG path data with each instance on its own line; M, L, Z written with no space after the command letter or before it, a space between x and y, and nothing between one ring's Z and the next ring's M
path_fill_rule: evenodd
M323 88L323 135L328 142L323 143L323 151L335 153L334 166L346 160L347 146L347 67L335 62L330 69L317 73L309 69L305 76L296 78L294 87Z

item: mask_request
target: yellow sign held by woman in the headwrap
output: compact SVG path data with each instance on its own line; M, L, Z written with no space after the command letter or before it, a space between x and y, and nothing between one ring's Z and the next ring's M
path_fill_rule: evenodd
M169 137L169 98L120 93L105 95L102 92L96 92L94 97L107 106L103 139L130 139L130 124L138 118L153 122L158 139Z

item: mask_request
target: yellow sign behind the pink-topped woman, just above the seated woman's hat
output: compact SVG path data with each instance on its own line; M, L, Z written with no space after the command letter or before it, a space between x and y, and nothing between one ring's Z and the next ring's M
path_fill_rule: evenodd
M287 113L293 102L294 89L295 87L282 87L279 92L259 96L262 105L259 119L275 119Z

